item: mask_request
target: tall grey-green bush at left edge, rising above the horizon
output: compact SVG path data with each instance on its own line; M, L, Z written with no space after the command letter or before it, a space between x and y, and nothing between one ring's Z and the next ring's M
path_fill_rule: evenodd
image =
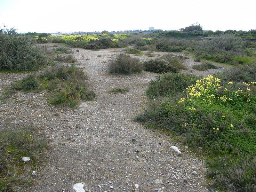
M32 46L32 39L15 29L0 29L0 69L36 70L46 64L45 56Z

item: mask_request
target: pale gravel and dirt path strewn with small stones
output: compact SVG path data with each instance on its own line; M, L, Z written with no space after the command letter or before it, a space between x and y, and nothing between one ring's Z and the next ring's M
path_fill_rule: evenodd
M91 89L97 93L93 101L62 111L46 105L46 94L18 92L0 105L1 119L5 119L1 126L33 122L43 126L42 134L50 140L43 170L38 170L30 189L21 191L74 192L76 183L84 183L85 191L205 191L202 160L172 138L132 121L147 107L145 90L157 75L107 74L105 61L122 49L73 50L78 67L85 67ZM17 74L2 73L1 86L14 77ZM116 87L130 91L109 92ZM172 151L172 145L181 148L181 156Z

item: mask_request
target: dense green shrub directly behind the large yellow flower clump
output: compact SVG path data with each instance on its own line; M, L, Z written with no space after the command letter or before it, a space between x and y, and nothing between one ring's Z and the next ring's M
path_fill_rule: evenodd
M186 90L189 85L195 84L197 79L198 77L194 75L165 73L163 76L159 76L156 80L151 80L146 94L150 98L156 98L166 94L173 95L177 92Z

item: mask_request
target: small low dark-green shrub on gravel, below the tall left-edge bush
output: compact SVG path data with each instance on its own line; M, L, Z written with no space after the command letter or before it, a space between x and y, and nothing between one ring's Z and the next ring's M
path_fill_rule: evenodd
M39 84L34 75L28 75L18 82L12 83L12 88L20 91L38 90Z

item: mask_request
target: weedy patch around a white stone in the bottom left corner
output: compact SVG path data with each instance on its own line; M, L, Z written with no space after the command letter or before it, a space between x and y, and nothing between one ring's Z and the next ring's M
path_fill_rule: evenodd
M4 127L0 132L0 191L11 192L32 182L31 173L43 163L46 144L34 125ZM30 157L30 161L24 163L21 157Z

